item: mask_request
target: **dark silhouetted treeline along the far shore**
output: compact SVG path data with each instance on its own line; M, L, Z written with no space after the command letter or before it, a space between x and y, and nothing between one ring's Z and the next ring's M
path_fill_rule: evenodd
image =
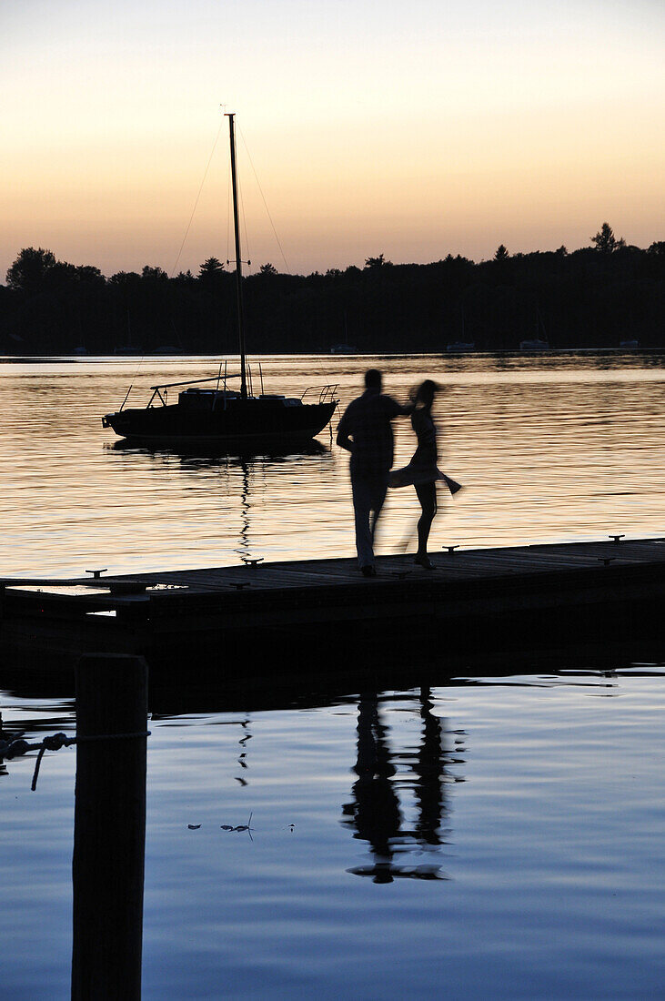
M605 222L592 246L569 252L459 254L392 264L383 253L325 273L284 274L269 263L243 278L248 347L255 353L440 351L455 342L510 350L525 339L552 347L663 347L665 241L646 249ZM20 251L0 285L6 355L236 351L235 275L215 257L198 274L169 277L146 265L106 278L99 268Z

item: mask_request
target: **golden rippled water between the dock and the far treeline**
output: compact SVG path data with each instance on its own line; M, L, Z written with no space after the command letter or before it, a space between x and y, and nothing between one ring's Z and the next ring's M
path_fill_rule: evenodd
M442 467L464 483L443 498L432 548L661 535L663 359L273 357L266 389L337 382L344 406L370 364L405 398L433 376ZM256 367L256 366L255 366ZM112 573L352 556L348 456L319 437L313 454L206 458L118 447L101 426L160 381L205 377L212 359L0 364L2 573ZM334 423L336 423L336 418ZM395 421L398 464L414 449ZM415 491L391 491L379 552L413 536ZM413 543L411 543L413 545Z

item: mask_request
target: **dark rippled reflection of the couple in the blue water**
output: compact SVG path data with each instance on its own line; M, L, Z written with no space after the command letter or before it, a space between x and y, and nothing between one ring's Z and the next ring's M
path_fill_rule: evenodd
M397 877L443 879L440 866L432 863L403 864L407 854L429 851L444 844L442 823L447 811L445 774L450 751L444 747L441 721L432 713L429 688L419 697L422 721L418 746L391 751L390 732L379 708L376 693L365 693L358 704L357 761L353 771L353 799L343 807L344 821L353 837L366 841L373 862L349 872L370 876L375 883L391 883ZM454 781L454 780L453 780ZM405 820L403 800L412 794L415 822Z

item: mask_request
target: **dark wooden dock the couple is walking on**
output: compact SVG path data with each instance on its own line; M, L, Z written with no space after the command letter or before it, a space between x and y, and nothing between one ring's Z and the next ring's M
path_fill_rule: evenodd
M205 570L0 581L5 663L62 665L82 653L140 653L151 667L224 677L311 672L371 659L448 654L660 629L665 539L259 563Z

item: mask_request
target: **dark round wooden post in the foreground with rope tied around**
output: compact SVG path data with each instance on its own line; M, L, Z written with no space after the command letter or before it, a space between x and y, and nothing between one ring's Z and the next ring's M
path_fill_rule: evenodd
M148 668L93 654L76 669L72 1001L141 997Z

